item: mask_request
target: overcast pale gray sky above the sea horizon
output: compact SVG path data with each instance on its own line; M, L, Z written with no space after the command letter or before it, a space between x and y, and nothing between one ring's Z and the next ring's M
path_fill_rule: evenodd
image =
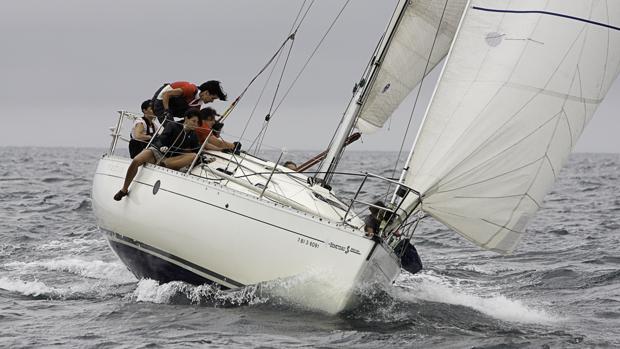
M241 92L288 32L300 0L0 2L0 146L109 144L115 111L139 111L163 82L223 81ZM301 28L283 86L323 35L344 0L317 0ZM352 0L281 109L265 144L323 149L351 96L396 0ZM436 76L437 74L433 74ZM240 134L263 81L226 122ZM434 83L422 89L427 100ZM271 85L273 86L273 84ZM268 90L245 137L256 136ZM410 98L411 99L411 98ZM412 99L389 126L353 149L398 150ZM222 111L226 104L215 103ZM419 105L414 127L424 110ZM584 132L577 151L620 152L620 83ZM405 148L412 143L415 129ZM232 136L228 136L232 138ZM248 143L245 141L244 143Z

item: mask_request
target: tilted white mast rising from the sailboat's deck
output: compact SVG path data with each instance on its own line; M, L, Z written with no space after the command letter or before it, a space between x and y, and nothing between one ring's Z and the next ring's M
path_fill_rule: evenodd
M340 157L342 156L344 143L347 137L351 134L353 127L355 127L355 122L357 121L361 107L364 104L366 92L375 82L377 72L381 67L383 58L385 57L385 54L394 37L394 33L396 32L396 28L398 28L398 24L400 23L409 3L410 0L400 0L396 5L396 9L388 24L383 40L375 52L375 55L373 55L372 64L369 69L366 70L360 82L356 85L354 96L344 112L342 121L340 122L336 134L329 145L327 155L321 163L318 174L315 176L318 182L320 182L323 186L328 185L331 181L333 172L336 170Z

